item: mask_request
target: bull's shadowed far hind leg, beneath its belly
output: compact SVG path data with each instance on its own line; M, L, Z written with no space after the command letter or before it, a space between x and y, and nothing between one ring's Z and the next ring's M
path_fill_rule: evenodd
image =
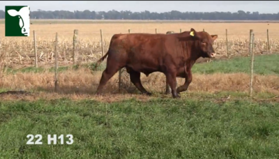
M127 70L130 74L130 80L135 85L135 87L137 87L137 89L139 89L140 92L142 92L143 94L150 96L151 93L146 91L146 89L144 89L144 86L142 86L142 82L140 81L140 72L132 70L131 68L128 68Z

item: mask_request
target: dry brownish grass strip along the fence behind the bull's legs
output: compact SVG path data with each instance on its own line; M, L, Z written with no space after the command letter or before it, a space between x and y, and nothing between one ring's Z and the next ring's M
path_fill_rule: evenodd
M123 73L123 89L118 93L118 74L114 75L104 89L104 96L96 96L100 77L100 71L91 72L87 68L79 70L67 70L59 74L59 93L53 93L54 73L18 73L17 75L6 75L1 80L1 87L6 89L23 89L25 91L36 90L38 96L33 98L61 98L70 97L73 99L95 98L98 100L123 100L123 98L149 97L138 95L139 91L135 86L129 86L129 79ZM273 93L279 95L279 77L276 75L255 75L253 90L255 93ZM190 93L218 93L221 91L246 92L249 91L250 76L244 73L230 73L213 75L194 74L193 82L188 91ZM183 84L183 79L177 78L178 85ZM163 93L165 89L165 75L163 73L153 73L146 77L142 74L142 84L148 91L153 93ZM130 93L136 93L130 94ZM37 93L36 93L37 95ZM8 99L2 96L2 99ZM151 97L152 98L152 97Z

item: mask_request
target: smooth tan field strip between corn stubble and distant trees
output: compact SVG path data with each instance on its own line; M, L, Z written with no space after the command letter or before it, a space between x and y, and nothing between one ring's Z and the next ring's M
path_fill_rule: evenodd
M77 21L78 23L78 21ZM262 40L266 39L266 29L269 29L270 38L279 36L279 23L195 23L195 22L158 22L158 23L96 23L96 24L31 24L30 31L35 30L38 38L48 38L54 40L55 33L59 33L61 38L73 38L73 30L78 29L80 38L100 38L100 29L103 30L105 38L110 38L114 33L166 33L167 31L179 32L188 31L194 28L197 31L208 31L211 34L218 34L220 39L225 39L225 29L228 31L229 39L249 38L250 29L254 30L255 37ZM3 38L5 24L0 25L0 35ZM98 37L94 37L98 35ZM8 38L8 37L7 37ZM22 38L27 39L27 38ZM29 39L33 40L31 37Z

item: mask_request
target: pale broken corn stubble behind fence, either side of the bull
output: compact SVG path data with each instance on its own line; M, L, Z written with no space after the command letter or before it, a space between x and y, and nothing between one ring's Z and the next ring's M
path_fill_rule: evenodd
M126 31L126 33L129 32L132 33L132 30L128 29L128 31ZM157 29L155 29L154 32L156 33ZM248 33L238 33L239 38L230 38L230 36L233 35L229 34L227 29L224 32L225 35L218 35L218 39L213 45L218 58L249 56L248 48L250 44ZM102 56L102 54L104 54L104 52L107 52L110 39L114 34L115 33L112 31L104 32L102 30L90 33L78 32L76 34L74 34L74 31L72 33L58 33L59 41L57 45L57 52L59 63L74 63L74 57L76 59L76 63L89 63L96 61L100 58L100 56ZM269 33L267 30L265 35L266 39L264 40L262 38L255 38L255 54L269 54L271 52L279 52L279 40L269 39L268 34ZM36 31L33 31L33 35L31 33L31 36L28 38L2 38L1 48L4 52L8 52L6 59L11 65L36 65L37 63L38 66L44 66L45 64L53 64L55 35L56 33L42 33L41 31L40 33L36 33ZM263 36L264 33L257 33L257 36L260 35ZM36 38L34 38L34 36L36 36ZM74 36L76 36L75 52L73 45ZM241 36L245 37L241 38ZM276 35L273 34L272 36Z

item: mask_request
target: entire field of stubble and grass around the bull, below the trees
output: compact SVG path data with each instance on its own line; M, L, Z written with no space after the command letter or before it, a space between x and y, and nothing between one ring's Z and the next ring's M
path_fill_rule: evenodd
M0 158L278 158L278 23L75 22L33 21L39 68L34 67L33 37L3 37L0 22ZM97 70L91 69L101 56L100 29L106 52L114 33L179 32L191 27L218 34L218 56L193 66L193 82L180 99L163 94L163 73L142 74L142 84L153 95L140 95L125 70L120 92L117 73L105 94L96 96L106 64L105 60ZM74 29L80 34L80 64L75 66ZM249 29L256 38L253 98ZM267 53L266 29L272 54ZM59 90L54 93L56 32ZM3 66L8 66L4 72ZM27 92L5 93L9 90ZM28 134L43 135L43 145L27 145ZM74 143L47 145L47 134L71 134Z

